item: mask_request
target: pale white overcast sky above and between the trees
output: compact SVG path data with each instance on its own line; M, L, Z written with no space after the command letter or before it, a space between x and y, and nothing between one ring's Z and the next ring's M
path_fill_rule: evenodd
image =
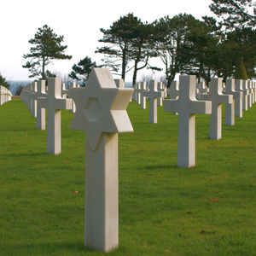
M64 36L65 53L71 60L55 61L47 68L50 71L70 73L74 63L86 55L100 64L102 55L95 54L100 28L109 28L120 16L133 13L143 21L154 21L179 13L194 15L201 19L211 15L208 8L211 0L3 0L0 15L0 73L7 80L28 80L29 72L22 65L24 54L29 53L38 27L47 24L57 35ZM146 73L142 70L138 77ZM131 80L131 73L127 80Z

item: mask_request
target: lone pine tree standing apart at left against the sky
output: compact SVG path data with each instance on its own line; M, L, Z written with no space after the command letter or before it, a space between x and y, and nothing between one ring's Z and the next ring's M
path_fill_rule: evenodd
M47 25L38 28L34 38L28 41L34 45L30 49L30 54L23 55L23 58L31 59L26 62L26 65L22 66L29 69L30 78L41 76L41 79L46 79L45 67L53 60L70 60L72 58L71 55L64 55L67 45L61 45L63 40L63 36L55 34Z

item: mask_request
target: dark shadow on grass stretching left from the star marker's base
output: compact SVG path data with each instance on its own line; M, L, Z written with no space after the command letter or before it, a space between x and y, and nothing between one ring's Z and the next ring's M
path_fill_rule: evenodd
M26 244L0 245L2 252L8 252L8 255L59 255L58 253L79 253L86 255L87 253L97 253L98 251L89 247L84 247L83 242L74 241L56 241L56 242L38 242ZM101 252L98 252L101 253ZM7 254L6 254L7 255Z

